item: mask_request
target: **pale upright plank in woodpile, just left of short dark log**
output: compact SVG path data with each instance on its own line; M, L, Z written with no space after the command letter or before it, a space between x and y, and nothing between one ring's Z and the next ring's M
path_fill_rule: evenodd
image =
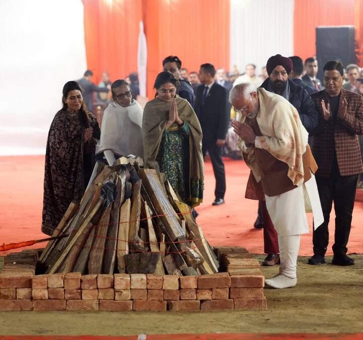
M129 224L131 200L128 198L120 208L117 240L117 272L126 273L124 255L129 254Z

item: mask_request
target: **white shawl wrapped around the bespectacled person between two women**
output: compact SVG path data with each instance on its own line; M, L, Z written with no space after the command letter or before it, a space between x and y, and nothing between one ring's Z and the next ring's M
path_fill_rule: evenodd
M115 102L109 103L104 110L96 154L103 151L110 165L115 161L114 153L120 156L133 154L143 157L142 116L143 108L136 100L128 107Z

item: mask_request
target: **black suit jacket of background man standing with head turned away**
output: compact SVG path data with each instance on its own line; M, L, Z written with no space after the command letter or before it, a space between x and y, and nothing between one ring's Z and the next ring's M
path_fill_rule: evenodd
M194 110L203 131L203 144L213 145L217 139L225 139L229 124L227 109L227 91L223 86L214 83L202 104L204 85L196 90Z

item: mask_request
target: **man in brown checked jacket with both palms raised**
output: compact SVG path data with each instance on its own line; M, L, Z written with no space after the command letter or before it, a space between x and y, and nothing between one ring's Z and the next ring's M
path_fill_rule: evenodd
M356 137L363 134L363 98L342 88L343 74L342 63L326 63L325 90L311 96L319 111L319 125L313 133L312 149L318 163L316 180L324 222L314 231L314 255L309 264L325 263L333 202L335 233L332 263L342 266L354 264L346 253L358 174L363 171Z

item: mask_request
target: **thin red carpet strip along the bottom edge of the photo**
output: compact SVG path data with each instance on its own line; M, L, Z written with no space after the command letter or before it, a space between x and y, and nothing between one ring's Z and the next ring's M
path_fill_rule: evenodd
M302 333L244 333L244 334L165 334L165 335L130 335L130 336L92 336L92 335L52 335L52 336L0 336L0 340L362 340L362 333L351 334L302 334Z

